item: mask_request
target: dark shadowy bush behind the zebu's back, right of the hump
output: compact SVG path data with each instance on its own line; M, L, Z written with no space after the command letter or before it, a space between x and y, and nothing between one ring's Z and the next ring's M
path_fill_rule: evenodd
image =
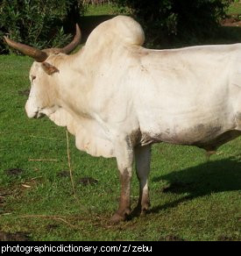
M132 15L145 27L152 44L185 39L188 43L212 34L225 17L233 0L116 0L128 6ZM166 42L167 43L167 42Z

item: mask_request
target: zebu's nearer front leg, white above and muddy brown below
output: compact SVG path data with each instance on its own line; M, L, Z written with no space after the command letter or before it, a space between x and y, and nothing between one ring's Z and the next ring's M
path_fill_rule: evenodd
M131 212L131 174L133 165L131 139L128 137L117 139L115 153L120 174L121 194L119 207L110 220L113 223L118 223L125 220Z

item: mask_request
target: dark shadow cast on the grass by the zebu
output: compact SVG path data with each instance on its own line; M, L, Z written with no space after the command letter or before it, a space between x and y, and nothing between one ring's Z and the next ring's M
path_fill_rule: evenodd
M152 208L150 213L158 213L176 207L179 203L187 202L196 197L209 196L212 193L241 190L241 162L229 158L209 161L197 167L174 171L152 179L154 182L168 181L169 186L162 188L162 193L188 195L170 203Z

